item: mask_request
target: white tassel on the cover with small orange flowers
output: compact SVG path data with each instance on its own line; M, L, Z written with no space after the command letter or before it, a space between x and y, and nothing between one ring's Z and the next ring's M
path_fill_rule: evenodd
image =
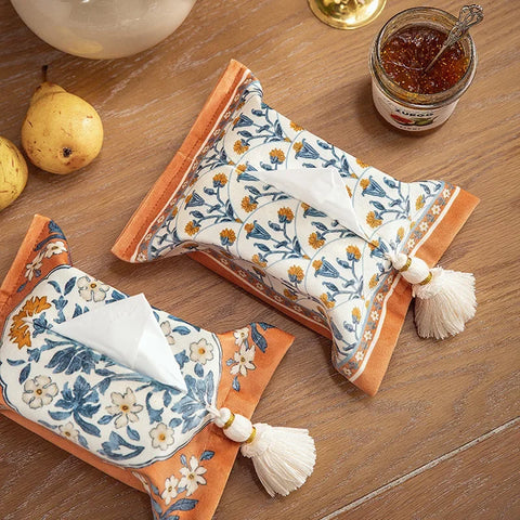
M474 316L477 299L471 273L429 269L424 260L403 253L388 255L392 265L412 285L415 323L422 338L444 339L461 333Z

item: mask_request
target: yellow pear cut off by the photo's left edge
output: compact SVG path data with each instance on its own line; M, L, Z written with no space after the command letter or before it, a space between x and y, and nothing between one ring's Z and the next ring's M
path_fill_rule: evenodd
M27 162L20 150L0 136L0 211L24 191L27 183Z

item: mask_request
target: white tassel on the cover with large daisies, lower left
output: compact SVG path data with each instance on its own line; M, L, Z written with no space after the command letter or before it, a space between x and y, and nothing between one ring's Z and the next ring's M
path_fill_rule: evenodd
M229 439L243 443L242 454L252 459L258 478L271 496L276 493L288 495L312 473L316 450L308 430L272 427L262 422L252 425L229 408L217 412L218 416L213 412L214 424Z

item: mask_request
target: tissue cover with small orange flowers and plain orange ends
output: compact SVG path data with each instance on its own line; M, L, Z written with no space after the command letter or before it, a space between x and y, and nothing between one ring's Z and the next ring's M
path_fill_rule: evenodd
M256 177L292 168L336 169L362 233ZM130 262L188 251L333 338L336 368L374 394L412 299L386 253L433 264L477 203L443 181L400 182L313 135L232 61L113 251Z

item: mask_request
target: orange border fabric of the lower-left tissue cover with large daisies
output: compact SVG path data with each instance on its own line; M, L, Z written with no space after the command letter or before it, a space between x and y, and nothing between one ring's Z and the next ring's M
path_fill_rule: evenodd
M67 252L53 255L51 259L46 259L44 271L41 272L41 275L32 278L30 283L25 285L23 290L17 292L18 287L26 282L26 264L32 260L36 245L50 235L48 229L49 222L50 219L48 218L41 216L35 217L0 288L0 315L2 316L2 326L4 326L5 317L13 311L15 306L27 297L34 286L40 283L50 270L60 264L70 263ZM239 376L240 390L236 391L232 386L234 375L231 374L231 367L226 364L226 361L230 358L233 359L234 353L239 350L233 333L234 332L217 335L222 346L222 376L217 393L217 404L218 406L227 406L246 417L251 417L265 386L295 338L277 328L262 329L261 334L268 344L266 352L263 353L257 349L253 360L255 369L248 370L246 376ZM249 336L249 338L252 341L251 336ZM169 459L157 461L148 467L139 469L123 468L105 461L79 444L62 438L43 426L18 415L6 405L2 396L1 388L0 403L5 407L1 410L0 413L6 417L121 482L139 491L144 491L142 483L134 477L133 472L138 472L144 478L147 478L148 481L152 481L152 483L158 487L159 495L156 495L155 498L164 508L165 505L160 499L160 494L164 491L165 480L170 478L173 472L177 477L180 477L179 469L182 467L181 455L184 455L187 461L190 461L191 456L199 458L205 451L214 452L212 457L202 463L206 468L204 477L207 480L207 485L200 485L193 496L190 496L190 498L199 502L193 510L183 511L182 518L186 520L200 520L212 516L239 448L239 444L229 440L220 428L210 422Z

